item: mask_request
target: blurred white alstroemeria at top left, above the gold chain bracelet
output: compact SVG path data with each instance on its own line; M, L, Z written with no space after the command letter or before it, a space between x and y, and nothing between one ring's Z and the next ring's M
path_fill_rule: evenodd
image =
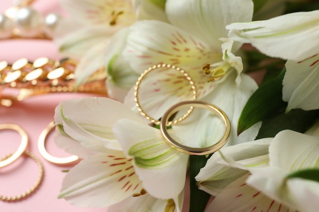
M137 9L153 7L159 13L156 18L161 17L162 10L151 0L144 0L140 6L134 6L131 0L60 0L60 4L70 17L59 23L55 43L62 54L79 59L77 83L85 82L103 68L105 46L121 28L137 20ZM151 18L143 14L142 18Z

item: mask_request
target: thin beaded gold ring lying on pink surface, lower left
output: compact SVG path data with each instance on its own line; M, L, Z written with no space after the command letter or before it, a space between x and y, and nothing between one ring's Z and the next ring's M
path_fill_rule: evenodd
M39 166L40 173L39 173L39 176L38 176L38 179L37 179L36 183L28 191L26 191L26 192L24 192L24 193L22 193L20 195L17 195L17 196L4 196L4 195L0 194L0 199L1 200L4 200L4 201L15 201L15 200L22 199L22 198L28 196L29 194L31 194L40 185L41 180L42 180L42 176L43 176L43 165L42 165L41 161L39 160L39 158L37 158L33 153L25 151L25 155L29 156L30 158L35 160L37 162L38 166ZM11 156L7 156L7 157L4 158L4 160L7 160L7 158L10 158L10 157Z

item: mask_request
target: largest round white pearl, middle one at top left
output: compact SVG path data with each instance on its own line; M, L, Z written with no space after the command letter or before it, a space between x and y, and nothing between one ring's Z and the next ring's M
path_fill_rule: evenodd
M14 22L16 28L19 30L19 36L31 38L41 34L44 21L41 14L36 10L23 7L17 11Z

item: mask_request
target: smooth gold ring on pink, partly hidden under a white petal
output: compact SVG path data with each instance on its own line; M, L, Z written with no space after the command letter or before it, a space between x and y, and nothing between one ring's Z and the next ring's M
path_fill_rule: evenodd
M50 122L50 124L41 132L39 136L39 140L38 140L38 148L39 148L40 154L45 160L55 164L68 164L68 163L77 161L78 157L75 155L69 156L66 158L57 158L57 157L51 156L45 149L44 143L45 143L46 136L52 129L54 129L55 126L56 125L54 124L54 122Z

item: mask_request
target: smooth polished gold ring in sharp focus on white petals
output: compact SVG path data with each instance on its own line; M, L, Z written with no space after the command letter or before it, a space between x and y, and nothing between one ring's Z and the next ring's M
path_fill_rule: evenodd
M223 122L225 124L225 133L224 133L223 137L216 144L208 146L208 147L204 147L204 148L189 147L189 146L185 146L185 145L182 145L182 144L176 142L168 134L166 127L167 127L167 121L170 118L170 116L172 114L174 114L175 112L177 112L178 110L180 110L182 108L187 108L190 106L193 106L193 107L197 106L200 108L208 109L208 110L214 112L219 118L221 118L223 120ZM229 135L230 135L230 122L229 122L227 115L224 113L224 111L222 111L220 108L218 108L215 105L212 105L212 104L209 104L209 103L203 102L203 101L184 101L184 102L180 102L180 103L173 105L171 108L169 108L165 112L165 114L163 115L163 117L161 119L161 125L159 125L159 130L161 130L161 134L162 134L164 140L172 148L174 148L177 151L184 153L184 154L201 156L201 155L208 155L208 154L214 153L225 145L225 143L227 142Z

